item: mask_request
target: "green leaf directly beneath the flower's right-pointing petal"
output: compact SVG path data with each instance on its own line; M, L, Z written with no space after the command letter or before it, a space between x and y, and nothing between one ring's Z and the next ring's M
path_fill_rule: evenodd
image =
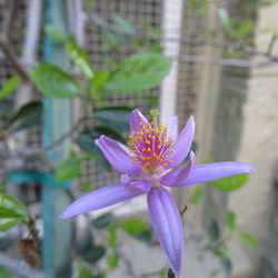
M235 191L241 188L249 179L249 175L242 173L222 179L209 181L208 185L221 190L221 191Z

